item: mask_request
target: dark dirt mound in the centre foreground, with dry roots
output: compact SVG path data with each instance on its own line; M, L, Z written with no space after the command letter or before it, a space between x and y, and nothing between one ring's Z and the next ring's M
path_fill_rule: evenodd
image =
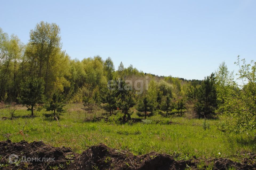
M108 148L104 144L92 146L82 153L74 162L81 169L185 169L186 164L179 164L166 154L150 154L134 156L127 151Z

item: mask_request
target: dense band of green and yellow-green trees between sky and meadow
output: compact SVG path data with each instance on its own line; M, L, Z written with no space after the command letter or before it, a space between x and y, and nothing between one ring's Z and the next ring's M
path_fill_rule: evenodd
M55 114L65 103L83 103L87 111L103 108L108 115L120 110L124 119L131 108L145 119L158 113L227 114L233 121L223 131L256 129L256 62L238 56L235 64L237 74L222 62L203 80L158 76L122 62L115 69L110 57L71 59L55 23L38 23L27 44L0 29L0 99L27 105L32 115L39 105Z

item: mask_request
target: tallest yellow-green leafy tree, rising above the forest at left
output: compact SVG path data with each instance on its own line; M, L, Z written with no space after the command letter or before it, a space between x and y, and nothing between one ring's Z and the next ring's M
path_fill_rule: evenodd
M29 56L28 71L33 71L37 77L45 81L45 94L49 95L52 84L56 80L56 71L59 64L65 61L65 53L61 52L60 28L55 23L41 21L30 31L30 40L27 44L26 55ZM57 71L57 72L58 72Z

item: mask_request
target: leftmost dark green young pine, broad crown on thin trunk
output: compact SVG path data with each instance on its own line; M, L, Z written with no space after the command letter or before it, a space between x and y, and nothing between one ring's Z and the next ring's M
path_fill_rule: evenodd
M21 104L31 106L31 115L34 115L34 107L36 104L44 101L44 82L40 78L29 77L21 83L20 94L18 100Z

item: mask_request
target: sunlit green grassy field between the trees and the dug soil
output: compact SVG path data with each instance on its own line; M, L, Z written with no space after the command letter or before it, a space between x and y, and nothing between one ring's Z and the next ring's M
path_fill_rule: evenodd
M244 156L242 152L255 152L255 144L246 134L226 134L218 130L225 117L206 120L205 130L203 119L164 118L159 114L140 123L118 123L121 113L111 116L108 122L86 122L85 119L100 116L103 111L86 114L82 107L82 104L67 105L67 112L60 116L58 122L43 116L43 113L49 113L44 109L36 111L35 117L25 117L31 113L20 107L14 120L0 119L0 141L42 140L55 147L71 147L78 153L91 145L105 143L135 155L156 151L174 155L177 160L196 156L199 159L226 157L239 161ZM10 117L6 108L0 109L0 117ZM134 113L132 117L137 115ZM161 120L162 123L155 124L151 120ZM165 123L169 121L173 124ZM20 130L24 135L19 133Z

